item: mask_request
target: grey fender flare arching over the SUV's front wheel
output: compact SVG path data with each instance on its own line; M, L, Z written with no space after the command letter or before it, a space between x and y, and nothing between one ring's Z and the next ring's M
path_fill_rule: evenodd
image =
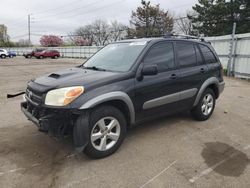
M83 110L83 109L93 108L98 104L101 104L103 102L108 102L111 100L121 100L127 105L129 109L130 119L131 119L130 123L134 124L135 123L135 109L134 109L133 102L131 101L130 97L122 91L114 91L114 92L99 95L87 101L86 103L84 103L79 109Z

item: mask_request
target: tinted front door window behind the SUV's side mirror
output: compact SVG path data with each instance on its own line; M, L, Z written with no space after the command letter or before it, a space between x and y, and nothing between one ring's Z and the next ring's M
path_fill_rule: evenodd
M173 44L162 42L154 45L145 56L144 64L156 64L159 72L174 68Z

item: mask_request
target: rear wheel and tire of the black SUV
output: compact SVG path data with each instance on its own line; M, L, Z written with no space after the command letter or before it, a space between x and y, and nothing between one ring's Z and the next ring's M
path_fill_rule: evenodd
M205 121L213 114L215 107L215 94L210 88L207 88L198 102L198 104L191 110L194 119L198 121Z

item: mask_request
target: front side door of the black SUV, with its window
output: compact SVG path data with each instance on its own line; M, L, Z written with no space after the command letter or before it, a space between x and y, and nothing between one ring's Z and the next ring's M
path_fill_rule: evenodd
M154 44L143 58L141 67L156 65L158 74L135 79L136 120L168 114L179 109L179 70L175 63L174 46L170 41ZM141 69L138 69L138 72Z

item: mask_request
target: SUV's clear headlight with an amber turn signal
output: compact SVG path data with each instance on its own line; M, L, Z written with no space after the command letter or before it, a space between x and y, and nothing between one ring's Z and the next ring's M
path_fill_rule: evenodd
M54 89L47 93L45 104L51 106L65 106L84 92L83 86Z

